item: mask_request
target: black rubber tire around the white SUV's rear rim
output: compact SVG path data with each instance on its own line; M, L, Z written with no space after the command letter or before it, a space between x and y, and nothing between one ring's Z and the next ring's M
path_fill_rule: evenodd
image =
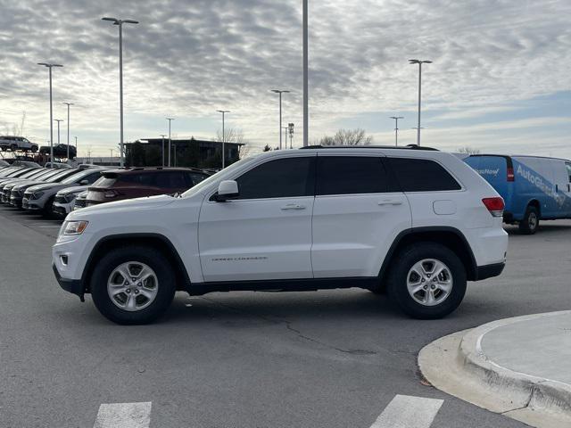
M425 259L435 259L442 262L448 268L452 280L452 287L448 296L434 306L419 303L408 291L409 274L412 267ZM400 251L394 260L395 264L388 276L387 291L389 298L404 313L418 319L437 319L446 317L459 307L466 294L466 268L459 257L449 248L439 243L415 243ZM425 281L426 286L430 286L430 280ZM424 293L422 290L419 292L421 295ZM436 290L436 292L439 291Z

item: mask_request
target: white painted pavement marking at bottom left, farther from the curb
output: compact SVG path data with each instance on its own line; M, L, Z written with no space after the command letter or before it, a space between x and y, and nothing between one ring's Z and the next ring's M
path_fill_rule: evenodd
M102 404L94 428L149 428L151 402Z

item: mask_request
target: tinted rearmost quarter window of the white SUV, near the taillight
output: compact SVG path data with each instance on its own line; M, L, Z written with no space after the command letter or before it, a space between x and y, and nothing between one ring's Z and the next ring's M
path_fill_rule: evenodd
M427 159L388 158L402 192L459 190L458 181L435 162Z

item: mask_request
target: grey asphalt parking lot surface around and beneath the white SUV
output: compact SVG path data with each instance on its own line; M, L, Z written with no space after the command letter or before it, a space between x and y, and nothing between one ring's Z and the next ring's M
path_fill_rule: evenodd
M469 284L442 320L404 317L385 297L350 289L179 293L161 322L120 326L59 288L50 252L59 226L0 207L3 428L100 426L106 403L147 403L145 426L162 428L383 428L417 402L400 396L433 409L402 426L523 427L427 385L418 351L495 319L571 307L571 221L561 220L533 236L507 227L504 274Z

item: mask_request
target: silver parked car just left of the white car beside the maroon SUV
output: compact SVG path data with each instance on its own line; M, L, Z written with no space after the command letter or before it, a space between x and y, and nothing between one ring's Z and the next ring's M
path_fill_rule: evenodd
M102 173L101 169L76 169L76 171L78 172L60 182L44 183L28 187L21 199L22 208L29 211L41 210L46 216L50 216L54 208L55 194L59 190L78 185L93 185L95 181L101 177ZM14 194L13 197L17 200L19 195Z

